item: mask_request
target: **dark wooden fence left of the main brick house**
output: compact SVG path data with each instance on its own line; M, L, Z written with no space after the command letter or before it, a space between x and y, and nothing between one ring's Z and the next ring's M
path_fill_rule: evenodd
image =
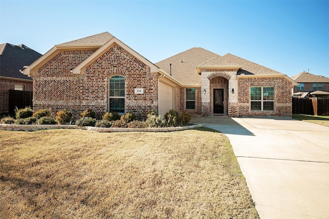
M15 108L25 108L30 106L32 108L32 91L9 90L8 110L14 112Z

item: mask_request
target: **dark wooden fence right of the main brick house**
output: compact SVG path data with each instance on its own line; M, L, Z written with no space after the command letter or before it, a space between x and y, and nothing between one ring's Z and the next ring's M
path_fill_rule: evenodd
M329 98L293 97L293 114L329 115Z

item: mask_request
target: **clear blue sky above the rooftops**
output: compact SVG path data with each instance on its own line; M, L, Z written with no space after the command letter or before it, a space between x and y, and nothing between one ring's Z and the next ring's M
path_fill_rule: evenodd
M153 63L192 47L329 77L329 1L0 0L0 43L42 54L109 32Z

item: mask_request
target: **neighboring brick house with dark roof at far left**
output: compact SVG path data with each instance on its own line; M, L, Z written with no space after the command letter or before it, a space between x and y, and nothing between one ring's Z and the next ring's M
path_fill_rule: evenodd
M8 112L9 90L33 90L32 78L20 70L40 56L40 53L23 44L0 44L0 113Z

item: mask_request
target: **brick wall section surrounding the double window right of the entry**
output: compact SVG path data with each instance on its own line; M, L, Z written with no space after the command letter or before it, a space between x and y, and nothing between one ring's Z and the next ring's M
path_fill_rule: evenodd
M241 77L239 85L239 116L292 116L290 83L282 77ZM252 111L250 109L251 87L274 87L274 111Z

